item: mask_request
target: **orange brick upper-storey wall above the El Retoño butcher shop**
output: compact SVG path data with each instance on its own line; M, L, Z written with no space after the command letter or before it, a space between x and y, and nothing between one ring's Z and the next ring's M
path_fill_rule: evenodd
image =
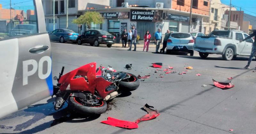
M184 0L184 6L177 5L177 1L182 1L182 0L172 0L172 9L178 10L178 11L190 12L190 1L191 0ZM204 1L208 2L207 6L204 6ZM209 16L210 0L198 0L197 7L198 7L197 9L192 8L193 13Z

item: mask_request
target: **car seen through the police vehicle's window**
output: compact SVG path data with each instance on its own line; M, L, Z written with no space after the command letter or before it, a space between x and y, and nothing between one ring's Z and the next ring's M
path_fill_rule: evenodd
M37 33L37 26L34 24L19 24L10 30L9 37L23 36Z

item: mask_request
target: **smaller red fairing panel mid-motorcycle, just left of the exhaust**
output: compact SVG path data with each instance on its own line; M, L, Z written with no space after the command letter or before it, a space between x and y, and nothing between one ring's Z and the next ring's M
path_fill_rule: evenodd
M113 90L106 92L106 87L113 84L112 82L109 82L102 77L98 77L96 78L96 83L96 89L100 94L100 97L105 98L109 93L113 92Z

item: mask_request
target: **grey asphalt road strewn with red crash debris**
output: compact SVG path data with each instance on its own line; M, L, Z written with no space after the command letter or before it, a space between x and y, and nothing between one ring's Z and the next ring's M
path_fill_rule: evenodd
M60 44L52 42L52 73L57 76L62 66L64 73L90 62L112 65L117 71L128 71L132 63L135 75L150 74L140 87L115 98L100 116L69 114L66 108L53 109L51 97L0 119L0 133L256 133L256 90L253 70L246 70L248 57L224 61L220 55L201 59L198 53L187 56L127 51L127 48ZM150 48L150 51L154 51ZM162 62L174 67L176 74L154 73L151 63ZM185 66L192 66L187 74ZM255 66L255 61L251 67ZM254 69L254 68L253 68ZM200 73L201 76L196 76ZM160 78L164 76L163 78ZM214 87L212 78L228 81L233 77L235 87L222 90ZM207 85L202 87L202 85ZM125 97L124 97L125 96ZM139 123L138 129L126 130L100 123L108 116L135 121L147 114L140 108L148 103L161 115ZM233 131L230 131L233 129Z

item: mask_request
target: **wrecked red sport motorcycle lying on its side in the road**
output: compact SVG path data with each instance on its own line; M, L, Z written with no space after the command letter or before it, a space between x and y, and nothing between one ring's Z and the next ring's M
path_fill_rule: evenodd
M62 67L58 83L53 86L56 95L54 109L62 108L68 100L68 107L81 114L102 114L107 109L106 101L120 95L120 90L132 91L139 87L139 79L127 72L116 71L111 66L96 69L96 63L89 63L63 75Z

